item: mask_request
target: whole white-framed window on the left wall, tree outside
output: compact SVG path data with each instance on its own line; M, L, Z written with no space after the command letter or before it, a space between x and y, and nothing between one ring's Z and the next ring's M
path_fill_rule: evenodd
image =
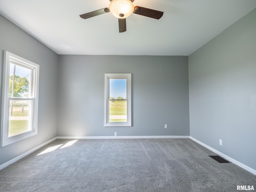
M0 146L37 134L39 65L4 52Z

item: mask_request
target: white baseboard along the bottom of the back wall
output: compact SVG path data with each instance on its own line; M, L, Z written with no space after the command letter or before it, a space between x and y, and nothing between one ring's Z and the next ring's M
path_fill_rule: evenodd
M190 136L83 136L83 137L69 137L57 136L56 139L174 139L174 138L187 138Z

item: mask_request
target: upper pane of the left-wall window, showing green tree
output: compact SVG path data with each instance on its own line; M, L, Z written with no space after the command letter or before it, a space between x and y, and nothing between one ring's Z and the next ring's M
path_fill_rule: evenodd
M9 97L30 97L30 75L31 69L10 63Z

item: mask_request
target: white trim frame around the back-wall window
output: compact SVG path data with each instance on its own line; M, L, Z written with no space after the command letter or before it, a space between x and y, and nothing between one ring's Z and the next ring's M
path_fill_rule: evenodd
M109 122L109 80L126 79L126 100L127 100L127 122ZM132 126L132 74L130 73L108 73L105 74L105 92L104 92L104 126Z

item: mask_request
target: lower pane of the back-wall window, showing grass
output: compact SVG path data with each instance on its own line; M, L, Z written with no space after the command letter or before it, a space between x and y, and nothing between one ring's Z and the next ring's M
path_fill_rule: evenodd
M109 122L127 122L127 101L109 101Z

